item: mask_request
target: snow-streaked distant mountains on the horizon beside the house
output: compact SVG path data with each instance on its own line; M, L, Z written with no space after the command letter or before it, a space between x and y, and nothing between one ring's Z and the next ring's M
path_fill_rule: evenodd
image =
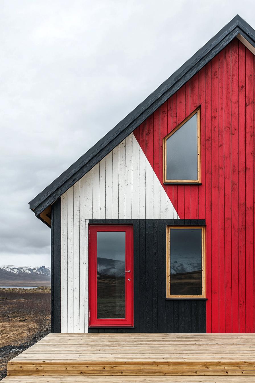
M0 266L0 286L50 286L50 267Z

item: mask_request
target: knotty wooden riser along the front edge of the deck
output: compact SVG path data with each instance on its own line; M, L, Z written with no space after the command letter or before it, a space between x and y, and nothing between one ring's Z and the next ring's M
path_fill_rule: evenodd
M253 375L255 365L247 362L9 362L8 375Z

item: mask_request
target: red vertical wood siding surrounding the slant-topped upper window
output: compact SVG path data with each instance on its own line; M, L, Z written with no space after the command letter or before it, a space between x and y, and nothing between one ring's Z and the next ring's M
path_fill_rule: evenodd
M237 39L134 132L162 183L162 139L201 105L202 185L163 185L206 219L207 332L254 332L254 64Z

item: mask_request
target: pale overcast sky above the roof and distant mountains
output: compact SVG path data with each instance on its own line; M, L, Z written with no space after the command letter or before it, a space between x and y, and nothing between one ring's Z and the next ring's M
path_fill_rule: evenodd
M0 264L50 265L28 202L253 1L0 2Z

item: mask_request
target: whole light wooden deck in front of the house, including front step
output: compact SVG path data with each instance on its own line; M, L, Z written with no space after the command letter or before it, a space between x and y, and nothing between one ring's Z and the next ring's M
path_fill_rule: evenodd
M49 334L8 363L6 383L35 379L255 382L255 334Z

